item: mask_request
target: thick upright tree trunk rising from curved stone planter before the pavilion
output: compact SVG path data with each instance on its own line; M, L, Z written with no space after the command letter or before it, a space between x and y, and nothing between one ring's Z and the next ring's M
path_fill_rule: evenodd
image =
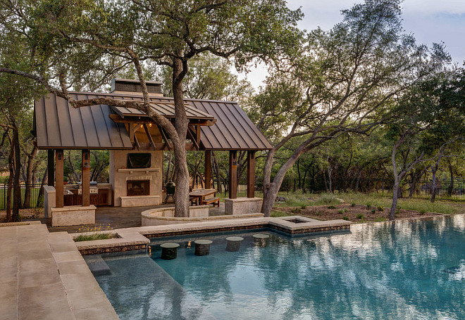
M187 135L187 115L182 98L182 79L187 72L187 62L173 58L173 98L175 103L175 129L178 139L173 140L176 167L175 217L189 217L189 168L185 141ZM178 140L178 141L175 141Z

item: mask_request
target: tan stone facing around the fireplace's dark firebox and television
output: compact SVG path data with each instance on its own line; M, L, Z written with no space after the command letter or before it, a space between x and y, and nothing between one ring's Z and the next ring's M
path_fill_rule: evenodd
M128 153L151 153L151 167L149 169L132 169L132 172L118 172L118 169L128 167ZM110 184L112 185L112 196L113 205L115 207L121 206L121 198L128 196L126 189L126 181L128 180L150 180L150 198L149 205L159 205L163 200L161 198L162 192L162 157L163 151L122 151L122 150L111 150L110 151ZM156 171L153 171L156 169ZM126 169L123 169L126 170ZM154 197L159 197L159 203L154 203ZM144 198L137 197L139 205L147 205ZM133 201L132 201L133 203Z

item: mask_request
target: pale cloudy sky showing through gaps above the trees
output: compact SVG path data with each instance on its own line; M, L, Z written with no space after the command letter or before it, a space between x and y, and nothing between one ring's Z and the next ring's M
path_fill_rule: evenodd
M328 30L342 20L340 11L350 8L356 0L287 0L292 9L302 7L304 19L301 29L313 30L321 27ZM418 43L431 46L444 42L452 59L463 65L465 60L465 0L404 0L402 3L403 27L414 34ZM266 71L256 68L247 78L258 88Z

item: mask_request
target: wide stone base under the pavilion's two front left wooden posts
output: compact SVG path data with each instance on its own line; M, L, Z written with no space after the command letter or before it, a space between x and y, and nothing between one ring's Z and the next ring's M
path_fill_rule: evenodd
M51 226L79 226L81 224L95 223L95 205L82 207L51 207Z

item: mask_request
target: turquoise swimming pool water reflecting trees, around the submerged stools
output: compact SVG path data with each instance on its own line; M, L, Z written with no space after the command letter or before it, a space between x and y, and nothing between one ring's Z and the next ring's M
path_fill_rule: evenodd
M268 233L266 247L252 234ZM225 250L231 234L240 251ZM192 241L213 241L194 255ZM358 224L351 233L271 230L154 242L150 255L107 257L97 276L120 319L465 319L465 216ZM159 243L178 242L161 260Z

